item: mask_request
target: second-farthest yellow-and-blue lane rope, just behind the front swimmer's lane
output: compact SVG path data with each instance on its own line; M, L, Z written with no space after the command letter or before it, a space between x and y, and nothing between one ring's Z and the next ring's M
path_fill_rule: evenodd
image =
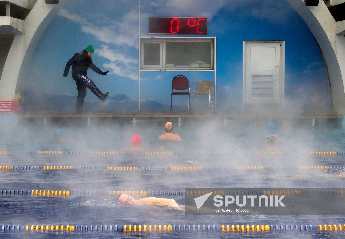
M344 166L172 166L172 167L129 167L129 166L66 166L66 165L44 165L44 166L0 166L0 170L54 170L54 169L88 169L88 170L163 170L163 171L198 171L198 170L220 170L220 169L345 169ZM1 172L1 171L0 171Z

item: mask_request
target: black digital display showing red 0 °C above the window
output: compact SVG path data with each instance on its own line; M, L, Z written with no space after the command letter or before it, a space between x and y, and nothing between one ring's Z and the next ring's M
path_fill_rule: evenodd
M207 18L149 18L149 34L207 34Z

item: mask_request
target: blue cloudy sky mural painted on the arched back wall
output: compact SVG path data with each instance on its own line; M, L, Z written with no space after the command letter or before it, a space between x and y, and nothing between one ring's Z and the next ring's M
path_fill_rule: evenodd
M217 109L241 110L243 41L285 41L285 108L331 108L326 67L307 25L285 0L140 0L140 35L149 17L208 18L209 37L217 37ZM70 0L51 21L34 52L30 72L19 82L31 110L73 110L76 83L62 77L66 62L89 44L102 76L88 71L105 102L89 90L86 110L138 109L138 0ZM157 36L157 35L155 35ZM164 35L158 35L164 36ZM193 35L183 35L193 36ZM170 36L169 36L170 37ZM171 80L183 74L190 84L214 80L214 72L141 72L141 109L169 109ZM207 103L200 102L206 109ZM192 98L193 103L196 102ZM174 104L187 105L186 98ZM182 106L181 106L182 107Z

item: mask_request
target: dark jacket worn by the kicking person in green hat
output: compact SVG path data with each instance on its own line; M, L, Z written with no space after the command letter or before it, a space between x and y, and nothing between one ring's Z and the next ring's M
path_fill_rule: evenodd
M85 60L84 58L85 51L74 54L74 56L68 60L65 67L65 74L68 74L69 68L72 66L72 75L74 74L84 74L87 75L87 70L91 68L94 72L101 74L102 71L98 69L95 64L92 63L89 59Z

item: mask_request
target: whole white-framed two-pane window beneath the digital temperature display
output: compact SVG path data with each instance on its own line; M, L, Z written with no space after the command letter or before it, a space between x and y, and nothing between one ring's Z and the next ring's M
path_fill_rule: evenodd
M141 39L141 69L214 69L214 39L157 40Z

